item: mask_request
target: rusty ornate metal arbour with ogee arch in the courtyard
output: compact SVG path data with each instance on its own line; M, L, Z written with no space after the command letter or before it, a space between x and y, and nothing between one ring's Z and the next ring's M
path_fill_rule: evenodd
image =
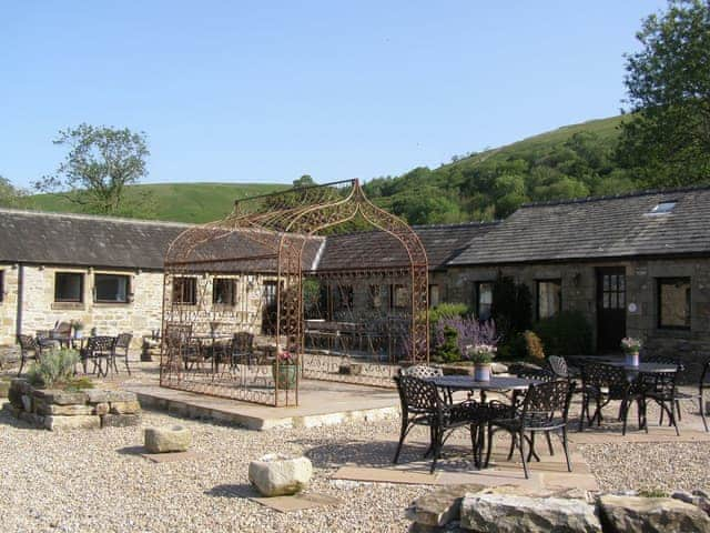
M372 309L355 309L363 288L372 309L386 308L376 320ZM168 250L161 384L296 404L298 380L281 386L283 363L270 356L287 350L298 354L302 378L390 386L398 365L428 361L427 300L417 234L373 204L357 180L237 200L224 220L185 230ZM257 341L235 359L239 346L219 329Z

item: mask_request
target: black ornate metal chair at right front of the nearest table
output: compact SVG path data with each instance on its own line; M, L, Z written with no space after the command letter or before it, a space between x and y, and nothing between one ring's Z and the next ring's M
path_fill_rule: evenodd
M525 394L523 405L513 409L501 409L503 418L494 418L488 422L488 450L486 452L486 464L490 461L494 435L503 430L510 434L513 449L518 447L523 460L525 477L529 477L527 463L535 454L535 434L558 433L565 449L567 470L572 471L569 461L569 450L567 447L567 421L569 414L569 403L575 390L575 383L568 380L557 380L537 385L530 385ZM529 444L528 456L525 456L525 442ZM552 443L547 440L550 455L554 455ZM513 451L513 450L511 450ZM513 453L508 454L508 460Z

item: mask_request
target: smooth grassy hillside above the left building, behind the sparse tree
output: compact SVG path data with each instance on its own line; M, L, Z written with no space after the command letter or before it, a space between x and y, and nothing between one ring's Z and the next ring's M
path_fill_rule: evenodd
M234 200L266 194L288 185L273 183L164 183L129 188L129 197L142 201L148 193L146 218L179 222L210 222L232 211ZM79 212L77 204L59 194L34 194L30 208L43 211Z

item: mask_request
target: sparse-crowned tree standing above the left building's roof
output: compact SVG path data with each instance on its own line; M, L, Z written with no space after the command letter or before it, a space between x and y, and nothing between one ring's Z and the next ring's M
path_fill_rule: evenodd
M61 190L68 200L90 213L144 211L146 198L126 195L128 185L148 175L145 161L150 152L143 132L80 124L60 131L53 142L69 147L69 153L54 175L34 184L38 190Z

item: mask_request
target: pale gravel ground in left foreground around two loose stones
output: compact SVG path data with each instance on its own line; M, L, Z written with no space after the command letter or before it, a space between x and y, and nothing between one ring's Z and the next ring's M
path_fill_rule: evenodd
M144 425L176 421L143 416ZM405 507L430 490L327 479L347 461L387 463L394 449L376 436L396 434L397 421L264 433L179 422L192 429L199 461L156 464L136 455L140 428L53 433L0 414L1 530L396 532L409 524ZM311 491L344 503L282 514L247 500L248 462L270 451L306 453L316 469ZM403 460L414 459L407 453Z

